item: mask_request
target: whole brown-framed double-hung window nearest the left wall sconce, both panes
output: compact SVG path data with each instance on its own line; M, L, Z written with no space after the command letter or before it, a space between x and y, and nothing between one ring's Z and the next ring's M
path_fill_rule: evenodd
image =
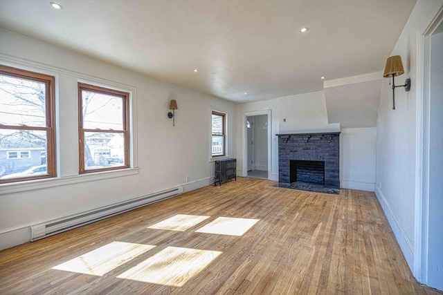
M129 167L129 93L79 84L80 173Z

